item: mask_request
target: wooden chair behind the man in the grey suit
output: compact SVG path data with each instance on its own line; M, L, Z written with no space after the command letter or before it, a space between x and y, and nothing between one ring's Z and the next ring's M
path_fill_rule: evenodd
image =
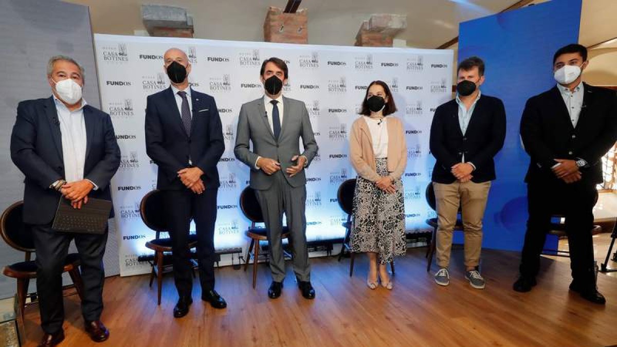
M244 271L249 267L249 261L253 259L253 289L255 289L255 283L257 283L257 261L259 260L259 241L268 240L268 229L263 227L255 227L257 223L263 223L262 208L259 206L259 200L255 195L255 190L250 186L247 186L240 193L240 209L242 214L251 220L251 226L244 233L251 239L249 249L246 251L246 261L244 262ZM281 238L285 239L289 237L289 228L283 227L283 233ZM252 251L252 254L251 254Z

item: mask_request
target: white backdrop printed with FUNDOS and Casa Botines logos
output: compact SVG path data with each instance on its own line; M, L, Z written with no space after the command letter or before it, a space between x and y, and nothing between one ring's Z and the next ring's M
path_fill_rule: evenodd
M429 128L434 109L452 97L449 50L313 46L239 41L94 35L102 109L108 112L122 163L112 182L120 245L120 274L149 272L138 256L154 238L139 216L139 202L156 188L157 167L146 154L146 96L164 90L169 80L163 68L168 48L183 49L193 70L191 88L212 95L223 123L225 153L218 164L217 248L248 245L249 222L238 200L248 184L249 169L233 155L240 106L263 96L259 69L264 59L280 57L289 67L284 95L305 102L319 146L307 169L307 238L344 236L346 215L337 202L337 188L355 172L349 162L348 132L357 119L366 87L383 80L391 87L405 123L408 164L403 178L407 228L423 230L434 211L424 200L434 159L429 154ZM225 259L223 259L225 260ZM222 262L225 264L225 261Z

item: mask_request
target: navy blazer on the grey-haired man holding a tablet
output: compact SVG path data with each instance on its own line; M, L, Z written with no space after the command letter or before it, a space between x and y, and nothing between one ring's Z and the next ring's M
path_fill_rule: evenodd
M109 115L83 107L86 125L84 178L96 183L90 198L111 200L109 183L120 165L120 148ZM54 98L22 101L10 136L10 157L25 175L23 221L48 224L54 219L60 193L49 186L64 178L62 135ZM110 217L113 217L113 209Z

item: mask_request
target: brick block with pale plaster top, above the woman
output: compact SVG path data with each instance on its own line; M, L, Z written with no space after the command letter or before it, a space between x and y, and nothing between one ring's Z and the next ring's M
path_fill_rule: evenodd
M374 14L360 25L354 46L392 47L394 36L407 28L407 16Z

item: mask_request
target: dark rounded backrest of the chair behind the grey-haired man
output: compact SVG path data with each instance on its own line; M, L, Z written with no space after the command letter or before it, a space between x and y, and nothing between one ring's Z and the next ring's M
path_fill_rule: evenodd
M27 254L35 251L32 230L23 222L23 201L17 201L2 212L0 235L7 245L18 251Z

